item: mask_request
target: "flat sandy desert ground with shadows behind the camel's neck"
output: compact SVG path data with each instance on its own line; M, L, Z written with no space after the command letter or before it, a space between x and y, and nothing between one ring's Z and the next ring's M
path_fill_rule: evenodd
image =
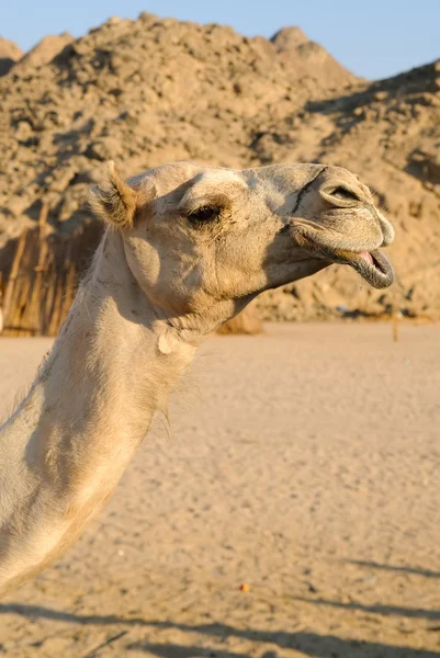
M2 408L49 345L0 340ZM214 338L182 388L0 655L440 657L440 328Z

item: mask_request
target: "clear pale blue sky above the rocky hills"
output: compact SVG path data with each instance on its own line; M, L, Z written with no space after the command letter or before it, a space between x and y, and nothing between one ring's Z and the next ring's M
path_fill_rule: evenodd
M112 15L142 11L228 24L249 36L298 25L371 79L440 58L440 0L0 0L0 34L27 50L46 34L81 36Z

